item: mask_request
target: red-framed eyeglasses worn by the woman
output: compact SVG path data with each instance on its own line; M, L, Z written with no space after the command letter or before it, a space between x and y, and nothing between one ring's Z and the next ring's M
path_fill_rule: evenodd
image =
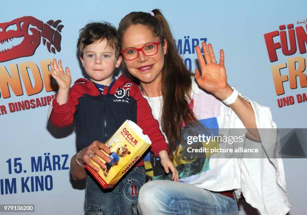
M156 42L156 43L149 43L138 49L129 48L129 49L121 50L120 53L126 61L132 61L138 57L139 52L142 52L145 56L156 55L159 51L159 45L161 43L162 41Z

